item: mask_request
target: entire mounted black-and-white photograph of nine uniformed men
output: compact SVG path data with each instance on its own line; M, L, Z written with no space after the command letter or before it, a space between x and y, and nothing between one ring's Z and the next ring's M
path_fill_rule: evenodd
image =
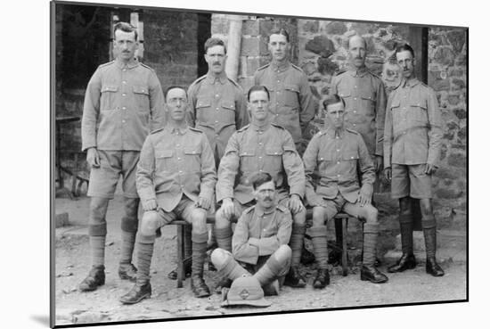
M469 300L467 24L134 2L50 3L51 326Z

